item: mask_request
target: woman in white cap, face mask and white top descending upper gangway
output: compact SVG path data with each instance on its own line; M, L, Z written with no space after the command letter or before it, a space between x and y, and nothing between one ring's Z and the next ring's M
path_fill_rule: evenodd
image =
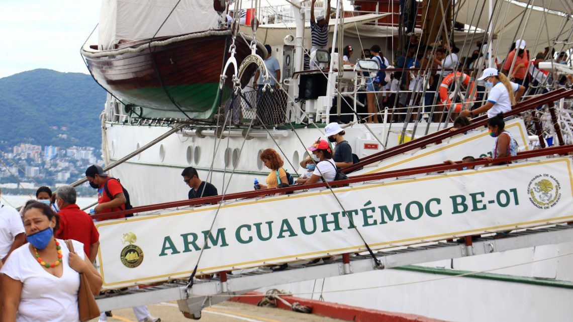
M485 111L488 117L494 117L499 113L511 111L512 105L521 98L525 92L525 87L509 81L503 74L497 72L495 68L486 68L484 74L478 80L485 80L485 87L489 89L488 100L484 105L469 111L464 109L462 116L479 115Z

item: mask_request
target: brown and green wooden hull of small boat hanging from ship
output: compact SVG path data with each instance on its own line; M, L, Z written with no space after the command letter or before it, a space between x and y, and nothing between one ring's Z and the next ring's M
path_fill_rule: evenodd
M125 104L184 111L190 117L205 119L230 96L231 77L219 89L230 44L227 32L204 37L188 34L137 42L123 47L127 50L121 45L117 50L100 52L84 48L82 54L97 83ZM235 57L242 61L250 48L244 41L237 41L236 46ZM109 54L101 54L105 52ZM247 70L245 77L250 78L253 72Z

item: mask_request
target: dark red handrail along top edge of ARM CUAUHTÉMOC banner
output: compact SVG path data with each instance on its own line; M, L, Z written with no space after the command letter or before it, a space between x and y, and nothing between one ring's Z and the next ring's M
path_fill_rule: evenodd
M489 161L485 158L476 159L475 162L471 163L464 163L464 166L483 166L490 163L504 163L504 162L512 162L520 159L527 159L533 158L537 156L548 156L548 155L562 155L568 154L573 152L573 144L568 146L558 146L558 147L551 147L551 148L544 148L539 150L532 150L532 151L523 151L519 152L516 156L508 156L505 158L494 159ZM254 190L254 191L244 191L240 193L233 193L227 195L217 195L213 197L204 197L204 198L196 198L196 199L186 199L182 201L174 201L174 202L164 202L164 203L156 203L154 205L146 205L146 206L139 206L134 207L133 209L129 210L122 210L122 211L113 211L112 213L105 213L105 214L96 214L92 215L92 218L95 219L108 219L111 217L116 217L119 215L127 215L127 214L134 214L134 213L142 213L146 211L154 211L154 210L162 210L162 209L169 209L175 207L189 207L189 206L199 206L199 205L206 205L206 204L216 204L222 201L229 201L233 199L242 199L242 198L256 198L256 197L263 197L265 195L275 195L275 194L285 194L291 191L297 190L308 190L313 188L325 188L327 186L343 186L344 184L351 184L357 182L368 182L374 180L381 180L387 178L399 178L402 176L410 176L416 174L428 174L431 172L439 172L439 171L449 171L449 170L457 170L460 168L460 164L432 164L429 166L421 166L421 167L413 167L413 168L406 168L401 170L391 170L386 172L378 172L374 174L363 174L363 175L356 175L351 176L346 180L338 180L335 182L328 182L328 183L314 183L314 184L306 184L301 185L297 184L294 186L289 186L285 188L277 188L277 189L266 189L266 190Z

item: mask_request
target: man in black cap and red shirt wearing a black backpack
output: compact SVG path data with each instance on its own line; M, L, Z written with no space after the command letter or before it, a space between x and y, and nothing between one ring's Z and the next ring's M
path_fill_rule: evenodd
M96 164L92 164L87 170L85 170L85 177L88 179L89 185L92 186L93 189L97 189L97 206L94 208L96 214L125 210L127 199L125 199L123 188L117 179L109 176ZM109 194L104 189L104 186L106 185ZM112 198L110 198L110 196ZM124 218L124 215L105 219L117 218Z

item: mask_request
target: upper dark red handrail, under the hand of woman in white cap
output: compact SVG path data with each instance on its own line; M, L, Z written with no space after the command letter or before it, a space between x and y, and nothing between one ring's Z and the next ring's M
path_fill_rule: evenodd
M555 91L545 93L540 96L533 97L532 99L521 101L520 103L516 104L515 107L512 108L511 111L504 113L505 116L513 116L518 113L527 111L532 108L536 108L539 105L559 100L564 97L573 96L573 89L556 89ZM366 156L360 160L360 162L356 164L352 164L351 166L344 167L341 171L348 173L350 171L354 171L356 169L362 168L368 164L378 162L387 158L391 158L392 156L396 156L399 154L403 154L407 151L411 151L415 148L421 148L427 146L428 144L438 143L444 139L448 139L454 135L458 135L469 131L470 129L476 129L478 127L482 127L486 125L488 120L487 115L481 115L473 119L473 123L470 125L466 125L465 127L456 129L455 131L450 131L450 128L444 128L437 132L430 133L429 135L425 135L422 138L411 140L409 142L399 144L398 146L388 148L387 150L380 151L378 153Z

